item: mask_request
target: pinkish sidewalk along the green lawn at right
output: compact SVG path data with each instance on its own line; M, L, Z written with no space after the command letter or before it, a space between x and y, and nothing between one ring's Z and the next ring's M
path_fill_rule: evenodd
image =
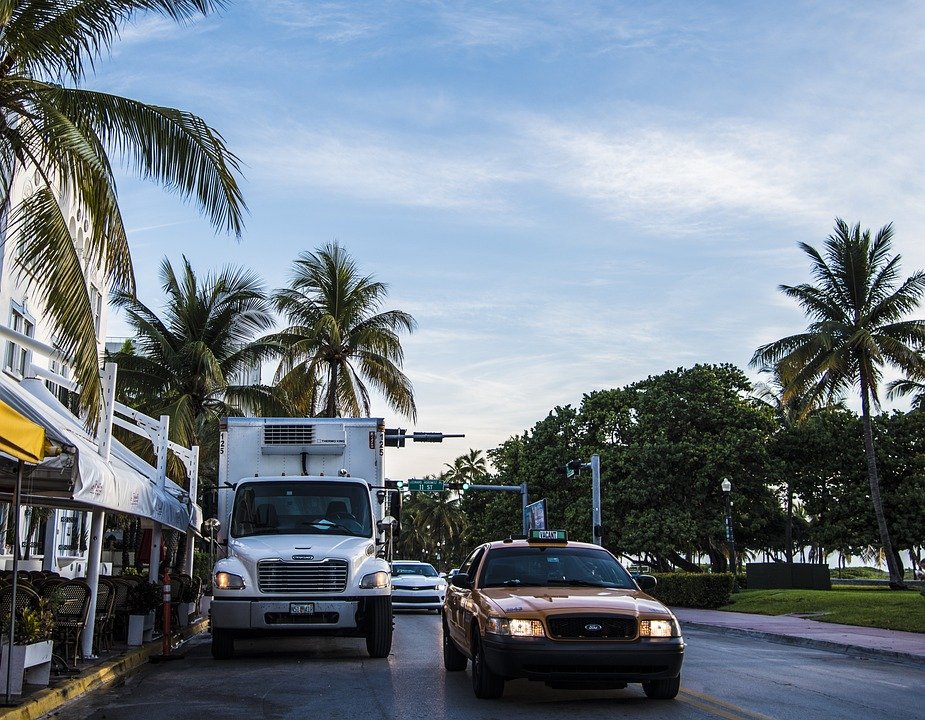
M719 610L672 608L685 627L772 642L925 665L925 634L819 622L794 615L751 615Z

